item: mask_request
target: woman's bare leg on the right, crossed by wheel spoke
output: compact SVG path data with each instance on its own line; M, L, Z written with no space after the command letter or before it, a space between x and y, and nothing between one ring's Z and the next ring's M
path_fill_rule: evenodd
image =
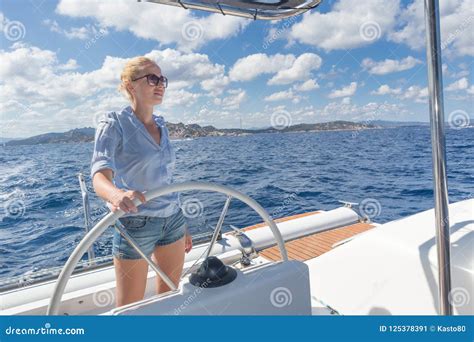
M157 246L153 252L153 259L163 272L178 286L184 265L184 237L165 246ZM170 288L160 278L156 277L156 293L169 291Z

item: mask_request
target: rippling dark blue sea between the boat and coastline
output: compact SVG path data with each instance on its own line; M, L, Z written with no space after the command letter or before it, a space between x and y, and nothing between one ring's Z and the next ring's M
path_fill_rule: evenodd
M447 130L450 202L474 196L474 129ZM173 141L175 182L204 181L235 188L274 218L338 207L338 200L379 204L376 222L433 207L429 127L364 131L255 134ZM0 147L0 278L61 266L84 236L79 172L89 179L92 143ZM224 205L221 194L186 192L197 209L193 233L210 231ZM91 197L98 220L104 204ZM229 225L259 222L233 200ZM111 253L109 229L95 244Z

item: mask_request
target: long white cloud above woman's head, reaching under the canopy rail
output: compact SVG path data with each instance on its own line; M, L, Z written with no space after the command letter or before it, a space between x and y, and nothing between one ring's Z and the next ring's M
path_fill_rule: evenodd
M188 52L209 41L233 37L251 22L221 14L196 17L183 8L126 0L62 0L56 12L76 18L94 18L101 27L130 31L139 38L160 44L176 43L178 49ZM123 48L126 50L128 46Z

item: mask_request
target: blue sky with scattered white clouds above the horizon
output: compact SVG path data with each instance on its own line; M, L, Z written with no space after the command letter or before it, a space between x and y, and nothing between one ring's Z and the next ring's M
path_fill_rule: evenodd
M474 0L442 0L445 118L474 117ZM355 3L360 4L355 6ZM429 121L423 1L323 1L280 21L135 0L2 0L0 137L94 127L129 58L169 79L155 114L218 128Z

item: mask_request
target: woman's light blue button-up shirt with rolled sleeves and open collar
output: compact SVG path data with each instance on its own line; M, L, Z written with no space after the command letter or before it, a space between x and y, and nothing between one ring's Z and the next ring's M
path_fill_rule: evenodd
M91 177L97 171L111 169L116 187L140 192L173 182L176 155L162 116L153 115L161 131L160 144L135 116L130 106L122 112L105 114L97 125ZM141 204L137 213L124 216L169 217L179 211L179 194L171 193Z

